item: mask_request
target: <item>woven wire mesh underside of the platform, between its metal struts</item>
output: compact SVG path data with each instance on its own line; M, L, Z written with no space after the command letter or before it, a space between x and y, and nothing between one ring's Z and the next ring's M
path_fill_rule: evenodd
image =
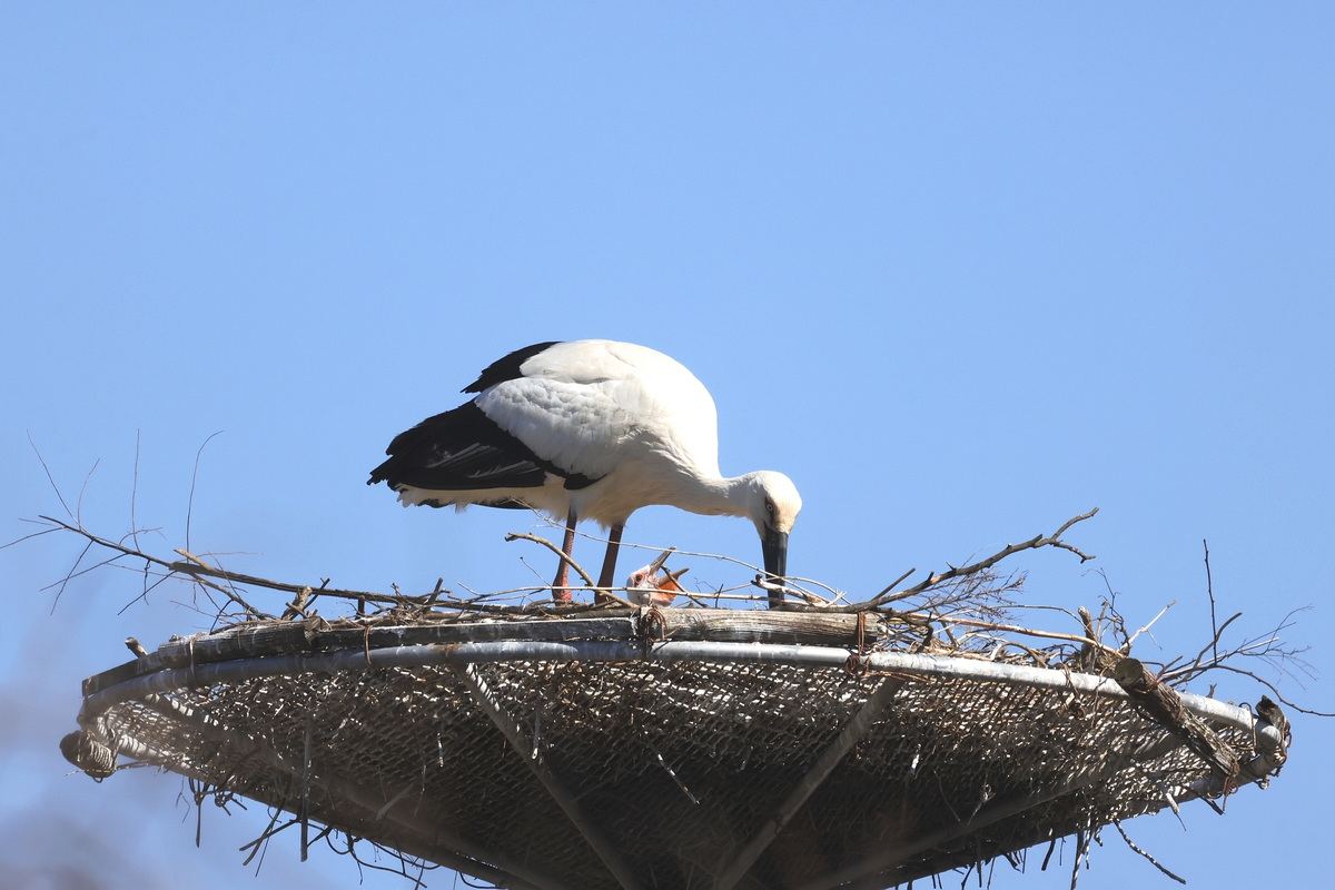
M825 664L478 663L521 726L525 750L515 751L457 669L372 667L366 640L354 667L182 683L89 714L84 729L214 794L304 811L354 838L446 865L462 851L514 866L534 886L613 890L617 879L534 775L541 762L641 886L702 889L885 679ZM318 648L319 634L308 643ZM1129 763L1164 731L1121 699L1073 686L901 679L738 886L832 886L872 861L889 865L873 867L868 886L890 886L1159 810L1208 771L1163 745ZM1222 735L1240 758L1255 754L1250 733ZM1072 782L1081 775L1093 781ZM999 801L1064 783L1069 793L969 827ZM944 839L916 843L928 837ZM886 858L894 850L902 855Z

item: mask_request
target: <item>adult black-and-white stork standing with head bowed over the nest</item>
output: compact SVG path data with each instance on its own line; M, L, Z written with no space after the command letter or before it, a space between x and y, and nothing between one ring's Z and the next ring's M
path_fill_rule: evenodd
M788 532L802 499L781 472L718 472L714 400L662 352L633 343L538 343L493 363L466 386L478 396L394 438L367 484L386 482L403 506L531 507L609 528L598 586L610 588L621 532L635 510L669 504L745 516L765 572L788 570ZM565 560L553 583L570 599ZM770 594L770 604L778 600Z

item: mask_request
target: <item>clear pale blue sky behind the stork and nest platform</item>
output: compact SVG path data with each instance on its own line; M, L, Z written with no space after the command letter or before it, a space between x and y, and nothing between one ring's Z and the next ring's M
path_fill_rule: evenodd
M363 482L494 358L602 336L710 387L725 472L794 479L796 574L869 594L1097 504L1072 539L1132 620L1177 602L1164 654L1206 642L1208 539L1220 610L1260 632L1314 606L1290 638L1328 678L1332 47L1326 4L4 4L0 539L60 510L29 432L71 507L100 459L84 520L128 531L139 436L170 552L222 430L191 542L238 570L546 575L502 542L525 516ZM669 510L627 538L760 556ZM68 775L80 679L203 624L184 587L120 614L115 571L52 612L77 550L0 551L0 873L352 886L292 838L250 878L259 807L206 805L196 850L175 777ZM1104 590L1065 554L1016 566L1032 602ZM1335 710L1328 679L1282 689ZM1270 791L1132 837L1192 886L1328 879L1332 727L1294 723ZM1093 866L1176 886L1119 838Z

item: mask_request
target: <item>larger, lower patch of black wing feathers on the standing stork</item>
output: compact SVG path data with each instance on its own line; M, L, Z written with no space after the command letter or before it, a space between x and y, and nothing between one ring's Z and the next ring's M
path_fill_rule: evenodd
M537 488L549 472L571 488L593 482L543 460L473 402L400 432L386 454L390 459L371 471L366 484L387 482L391 488L433 491Z

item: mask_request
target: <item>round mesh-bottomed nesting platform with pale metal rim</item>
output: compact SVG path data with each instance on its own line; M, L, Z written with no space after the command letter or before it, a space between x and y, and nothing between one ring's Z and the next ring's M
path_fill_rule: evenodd
M874 614L260 622L89 678L63 749L541 890L888 887L1283 763L1247 709L1180 697L1222 778L1109 677L1009 651Z

